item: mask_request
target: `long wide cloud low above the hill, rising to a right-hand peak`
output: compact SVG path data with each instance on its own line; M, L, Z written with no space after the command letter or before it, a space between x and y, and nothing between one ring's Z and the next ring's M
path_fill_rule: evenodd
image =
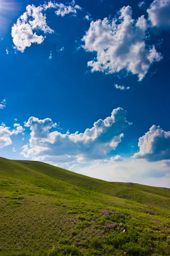
M121 142L122 131L130 126L126 120L126 111L114 109L111 116L94 123L84 133L62 134L56 131L57 124L51 119L40 120L30 117L25 123L31 129L29 144L23 146L25 157L34 160L52 161L54 163L89 162L107 158L108 152L114 150ZM55 129L55 131L50 131Z

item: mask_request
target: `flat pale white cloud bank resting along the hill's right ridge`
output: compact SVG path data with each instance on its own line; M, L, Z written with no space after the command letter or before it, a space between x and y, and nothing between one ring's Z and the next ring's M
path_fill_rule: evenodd
M170 188L170 166L165 166L164 161L155 163L141 159L123 158L122 160L114 163L97 160L85 167L81 167L81 164L73 164L69 170L101 180Z

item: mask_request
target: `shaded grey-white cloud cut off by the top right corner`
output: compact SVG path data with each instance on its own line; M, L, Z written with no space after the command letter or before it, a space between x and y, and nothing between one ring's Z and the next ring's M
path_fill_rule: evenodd
M170 29L170 0L154 0L147 12L153 27Z

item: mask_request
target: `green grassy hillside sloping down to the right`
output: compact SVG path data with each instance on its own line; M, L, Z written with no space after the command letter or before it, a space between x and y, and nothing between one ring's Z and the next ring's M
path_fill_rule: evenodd
M170 189L0 158L0 256L170 255Z

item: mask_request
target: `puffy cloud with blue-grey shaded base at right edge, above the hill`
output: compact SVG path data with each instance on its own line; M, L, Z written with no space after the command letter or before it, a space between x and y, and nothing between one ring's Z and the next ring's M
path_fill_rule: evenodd
M143 158L150 162L170 159L170 131L153 125L144 136L139 138L139 152L133 158Z

